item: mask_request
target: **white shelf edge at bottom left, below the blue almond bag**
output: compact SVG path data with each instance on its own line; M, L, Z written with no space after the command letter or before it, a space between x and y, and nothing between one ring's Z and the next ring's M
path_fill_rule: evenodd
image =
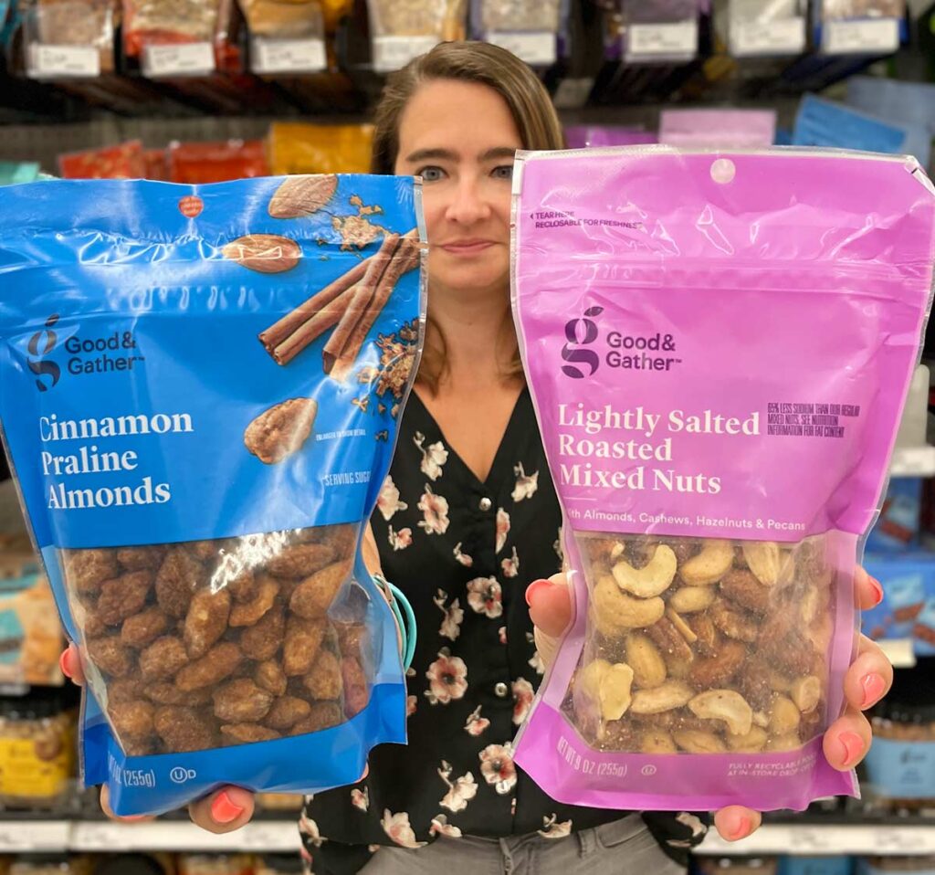
M0 853L77 851L253 851L297 853L294 820L257 820L225 836L186 821L116 824L109 821L0 821Z

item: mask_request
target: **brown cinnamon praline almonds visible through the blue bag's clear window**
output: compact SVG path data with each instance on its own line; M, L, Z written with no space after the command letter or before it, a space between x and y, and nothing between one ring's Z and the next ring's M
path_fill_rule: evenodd
M363 710L356 537L345 524L61 552L94 694L123 750L279 739Z

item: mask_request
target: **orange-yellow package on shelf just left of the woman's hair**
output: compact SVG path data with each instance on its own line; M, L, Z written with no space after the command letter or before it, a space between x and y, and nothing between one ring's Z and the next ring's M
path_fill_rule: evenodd
M372 124L273 122L266 136L270 173L367 173Z

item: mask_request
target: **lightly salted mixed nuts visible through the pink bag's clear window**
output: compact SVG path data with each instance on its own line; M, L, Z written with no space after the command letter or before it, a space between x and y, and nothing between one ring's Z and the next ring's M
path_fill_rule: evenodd
M583 535L587 644L565 711L593 747L759 753L825 728L825 538Z

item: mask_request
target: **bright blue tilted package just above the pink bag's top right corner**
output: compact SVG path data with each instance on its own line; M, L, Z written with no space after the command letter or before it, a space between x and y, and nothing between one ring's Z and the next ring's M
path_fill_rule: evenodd
M814 94L805 94L798 107L792 142L795 146L833 146L900 154L905 151L906 138L902 126Z

